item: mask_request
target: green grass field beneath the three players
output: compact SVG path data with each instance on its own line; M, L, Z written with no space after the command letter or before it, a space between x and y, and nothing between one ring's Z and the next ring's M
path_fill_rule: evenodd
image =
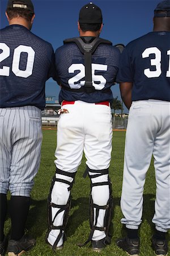
M82 177L86 168L85 158L82 159L82 164L79 166L75 177L75 184L72 189L72 204L66 229L67 240L65 242L64 249L54 253L52 249L50 249L49 245L45 243L45 235L47 231L47 197L50 183L55 172L54 151L56 149L56 131L43 130L43 133L44 138L42 142L40 170L36 176L35 185L31 193L31 208L29 210L27 221L27 232L30 236L37 239L37 243L36 246L25 255L99 255L99 253L92 252L90 243L84 247L78 247L76 245L79 242L86 241L90 233L90 225L88 221L90 180L88 177L86 177L86 179L83 179ZM107 246L100 255L127 255L124 251L118 249L115 243L117 238L124 235L124 229L122 229L122 225L120 223L120 219L122 217L120 196L124 163L124 143L125 132L113 131L112 161L109 168L114 197L114 212L111 226L112 243ZM143 222L139 230L141 237L141 256L154 255L154 251L151 249L150 239L154 230L151 219L154 215L155 189L155 175L152 162L146 177ZM9 232L9 228L10 219L8 218L6 221L6 234Z

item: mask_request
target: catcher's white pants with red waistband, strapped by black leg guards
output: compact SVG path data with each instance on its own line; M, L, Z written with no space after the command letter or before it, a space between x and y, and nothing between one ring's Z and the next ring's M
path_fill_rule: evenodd
M59 117L57 127L56 167L66 172L76 172L81 163L83 151L86 164L92 170L109 168L112 151L112 115L110 106L96 105L83 101L62 106L69 113ZM73 178L56 174L56 178L72 182ZM94 177L92 183L108 181L108 174ZM70 196L69 185L55 182L52 190L52 203L66 205ZM92 188L94 204L106 205L109 199L109 185L100 185ZM52 210L52 219L59 208ZM100 209L97 226L103 226L105 210ZM54 221L55 226L62 226L63 212L59 213ZM48 242L53 245L59 230L51 230ZM105 237L103 231L95 230L92 240ZM62 245L63 238L57 246Z

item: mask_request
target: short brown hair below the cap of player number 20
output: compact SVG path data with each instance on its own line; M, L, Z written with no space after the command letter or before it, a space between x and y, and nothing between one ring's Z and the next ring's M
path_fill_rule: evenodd
M31 13L30 11L20 8L7 8L6 12L9 19L22 17L28 20L28 22L31 22L33 16L33 13Z

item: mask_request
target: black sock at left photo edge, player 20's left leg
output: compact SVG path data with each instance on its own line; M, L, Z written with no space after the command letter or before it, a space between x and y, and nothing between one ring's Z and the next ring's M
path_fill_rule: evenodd
M7 213L7 197L6 194L0 193L0 241L3 241L4 238L4 224L5 224L5 218Z

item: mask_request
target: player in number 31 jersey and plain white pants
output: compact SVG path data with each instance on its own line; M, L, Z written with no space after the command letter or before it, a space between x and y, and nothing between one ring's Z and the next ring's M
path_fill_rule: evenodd
M154 13L154 30L125 47L117 76L122 99L130 109L121 195L121 222L127 236L117 245L130 255L139 255L143 187L152 154L156 177L152 247L156 255L168 253L165 235L170 228L170 1L160 2Z

